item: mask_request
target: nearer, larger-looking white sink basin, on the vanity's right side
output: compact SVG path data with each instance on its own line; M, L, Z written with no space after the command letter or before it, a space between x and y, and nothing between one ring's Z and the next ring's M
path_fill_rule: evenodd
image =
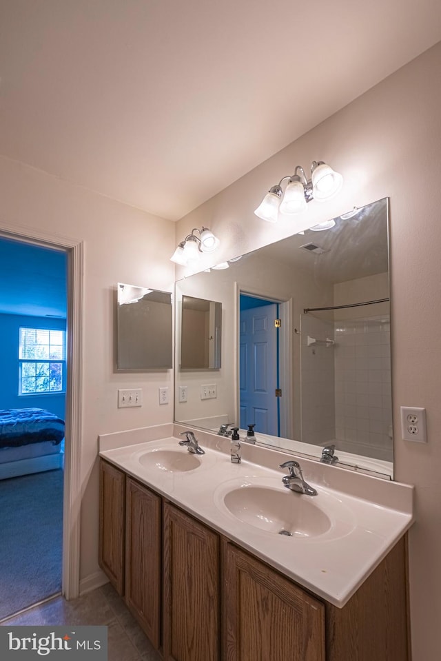
M230 518L288 539L336 539L356 525L351 509L325 489L306 496L283 487L278 478L231 480L216 489L214 502Z

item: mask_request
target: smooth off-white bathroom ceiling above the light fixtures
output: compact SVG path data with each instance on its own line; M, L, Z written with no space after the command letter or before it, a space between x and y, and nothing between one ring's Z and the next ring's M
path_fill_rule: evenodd
M0 154L177 220L440 38L439 0L2 0Z

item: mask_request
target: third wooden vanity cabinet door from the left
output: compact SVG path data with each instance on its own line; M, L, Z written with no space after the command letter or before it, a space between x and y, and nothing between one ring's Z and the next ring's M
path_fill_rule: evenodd
M218 661L219 538L167 502L163 569L165 661Z

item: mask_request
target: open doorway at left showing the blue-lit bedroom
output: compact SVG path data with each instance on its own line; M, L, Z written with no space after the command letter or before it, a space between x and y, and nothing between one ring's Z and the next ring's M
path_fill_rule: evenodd
M61 593L68 254L0 238L0 620Z

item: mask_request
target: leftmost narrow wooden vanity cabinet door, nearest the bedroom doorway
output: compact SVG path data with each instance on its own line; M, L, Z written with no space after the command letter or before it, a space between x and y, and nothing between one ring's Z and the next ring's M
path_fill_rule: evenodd
M124 594L125 474L100 460L99 566Z

